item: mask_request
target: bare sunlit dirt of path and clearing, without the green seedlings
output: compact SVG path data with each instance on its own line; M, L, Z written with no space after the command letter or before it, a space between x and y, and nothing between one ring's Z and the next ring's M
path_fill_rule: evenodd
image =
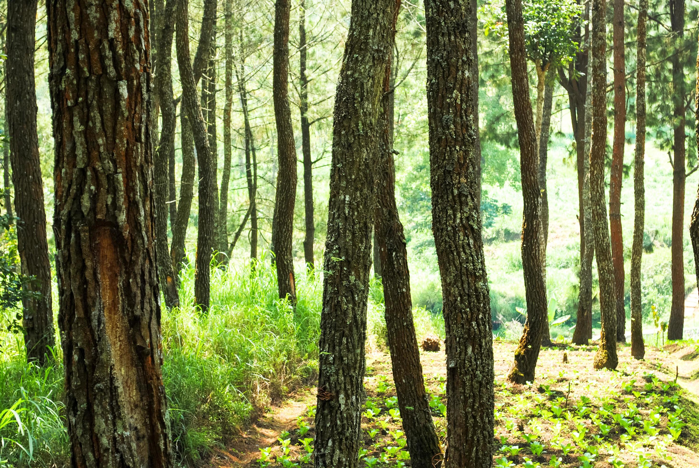
M512 466L528 466L535 467L536 463L540 466L549 466L549 461L552 457L561 458L561 467L577 468L580 466L578 456L582 454L582 448L577 447L568 455L563 455L563 452L557 450L555 445L556 427L554 422L559 423L563 427L561 434L569 434L568 431L575 431L575 424L580 424L580 419L561 419L552 421L544 420L543 418L535 418L532 411L537 407L542 409L549 408L556 404L563 407L563 397L565 397L565 409L568 411L570 418L575 411L582 411L582 415L587 418L589 413L585 413L586 407L596 409L607 404L617 404L621 411L630 407L630 402L637 404L640 409L641 418L649 413L651 406L656 403L648 402L644 406L642 398L645 396L644 388L649 388L653 385L652 378L656 378L656 386L662 385L663 382L672 382L677 378L677 383L682 388L679 391L679 406L683 408L682 417L686 422L686 427L682 431L682 437L678 441L670 441L665 444L664 452L656 448L656 452L651 453L653 440L663 437L666 430L663 429L668 424L667 416L663 416L661 422L658 423L660 433L657 437L640 440L641 434L637 437L632 437L630 440L624 439L628 436L624 434L621 428L616 428L610 431L610 434L603 439L596 438L597 442L590 440L592 444L597 444L599 454L594 463L595 467L612 467L607 459L610 453L605 452L605 448L611 450L612 446L621 448L619 459L624 462L627 468L633 468L639 465L636 460L636 453L646 451L647 458L652 459L651 466L661 467L665 465L667 468L696 468L699 467L699 348L696 344L671 344L669 346L655 348L647 346L644 360L635 360L630 356L630 347L621 346L619 348L619 367L617 371L596 371L593 369L593 357L596 346L594 343L591 346L567 346L559 345L555 348L545 348L541 351L538 360L536 382L534 385L512 385L505 382L505 376L512 365L514 349L516 343L505 341L495 341L493 350L495 355L495 374L496 374L496 446L498 451L495 453L493 466L496 461L502 458L503 453L500 445L512 446L517 445L525 448L519 455L507 455L508 460L514 463ZM566 355L568 362L563 362L563 355ZM365 378L365 386L368 399L370 402L376 402L377 406L384 406L382 412L376 418L368 419L363 417L362 429L365 437L366 453L365 459L377 458L382 454L387 446L395 446L398 436L402 429L400 419L389 416L389 410L385 403L387 399L395 396L395 388L392 385L391 361L390 356L381 350L370 350L366 356L367 361L367 376ZM425 378L425 384L431 391L432 395L442 395L442 397L433 397L439 401L446 403L446 398L443 395L445 385L445 355L442 350L436 353L421 352L421 362ZM384 383L382 383L384 382ZM629 386L631 385L631 386ZM644 387L645 385L645 387ZM638 393L637 397L633 392ZM663 398L661 391L658 390L659 398ZM666 392L667 395L670 395ZM612 397L610 397L612 395ZM668 398L667 395L664 398ZM559 397L556 400L556 397ZM586 397L584 401L582 397ZM677 398L676 398L677 399ZM225 450L217 451L209 460L206 466L216 468L233 468L233 467L259 467L258 458L260 458L261 449L271 447L272 454L281 453L280 442L278 437L284 431L288 432L288 438L291 439L289 451L289 460L296 460L305 453L299 439L297 427L299 418L303 420L303 424L310 426L308 433L303 437L313 437L313 419L308 415L309 409L312 411L315 405L315 388L305 388L280 406L269 409L264 416L258 418L249 427L244 428L243 434L234 439L233 444L226 447ZM674 406L672 403L665 404L666 407ZM397 406L396 406L397 407ZM672 410L668 410L672 411ZM617 411L619 412L619 411ZM498 416L499 415L499 416ZM446 420L442 417L440 409L433 409L433 417L435 427L438 430L440 437L445 436ZM374 437L370 437L368 431L377 427L379 420L387 422L385 430L379 430ZM532 421L539 421L537 427L531 427ZM596 426L589 420L585 420L586 430L588 434L595 437ZM517 427L515 428L514 425ZM546 451L539 456L527 455L528 442L522 439L522 434L527 434L531 430L540 432L538 441L546 447ZM398 431L396 433L396 431ZM639 432L642 432L639 431ZM283 434L286 435L286 434ZM599 436L599 434L597 434ZM665 435L667 439L669 436ZM568 439L566 439L568 440ZM649 442L649 440L651 442ZM553 442L552 442L553 441ZM599 444L598 444L599 443ZM606 444L606 445L605 445ZM398 444L400 445L400 444ZM645 448L644 448L645 446ZM663 444L661 444L663 446ZM585 446L582 445L584 448ZM595 446L593 446L594 448ZM407 450L407 449L406 449ZM577 450L577 451L576 451ZM592 448L590 449L592 450ZM524 465L528 458L533 465ZM274 458L272 458L274 460ZM311 458L312 460L312 458ZM378 463L377 467L396 467L398 465L396 459L386 459L388 464ZM270 467L281 467L280 463L272 463ZM312 465L304 465L302 467L310 467ZM360 467L364 466L360 462ZM410 466L410 461L406 461L406 467ZM592 466L592 465L590 465Z

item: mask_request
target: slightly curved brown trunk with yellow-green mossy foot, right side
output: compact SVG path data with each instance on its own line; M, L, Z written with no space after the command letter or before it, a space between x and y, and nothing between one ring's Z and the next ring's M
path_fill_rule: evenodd
M590 201L592 229L595 238L597 271L600 276L600 313L602 332L595 355L595 369L616 369L617 315L614 293L614 265L610 234L607 229L607 201L605 199L605 152L607 146L607 28L605 26L606 0L592 2L591 76L592 87L592 141L590 146Z

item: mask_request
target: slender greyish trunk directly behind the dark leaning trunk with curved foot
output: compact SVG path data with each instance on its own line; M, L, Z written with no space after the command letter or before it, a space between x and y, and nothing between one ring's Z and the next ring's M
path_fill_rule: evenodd
M544 106L541 114L541 128L539 131L539 187L541 190L541 263L544 284L546 284L546 246L549 241L549 191L546 188L546 165L549 155L549 131L551 129L551 108L554 104L554 78L556 70L549 67L544 86ZM549 318L544 320L544 332L541 334L542 346L552 346L551 332L549 331Z

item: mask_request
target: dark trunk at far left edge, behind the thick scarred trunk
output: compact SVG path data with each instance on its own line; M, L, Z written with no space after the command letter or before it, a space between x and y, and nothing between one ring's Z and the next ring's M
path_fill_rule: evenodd
M46 241L41 159L36 136L34 26L36 0L10 1L7 10L7 127L17 213L17 253L24 288L22 329L27 360L46 364L55 344L51 309L51 262ZM96 174L95 174L96 175Z

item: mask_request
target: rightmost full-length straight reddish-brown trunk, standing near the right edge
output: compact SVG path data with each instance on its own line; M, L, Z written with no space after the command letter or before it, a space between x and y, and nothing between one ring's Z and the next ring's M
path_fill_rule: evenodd
M675 153L672 166L672 308L668 322L668 340L682 339L684 330L684 183L686 175L684 148L684 70L679 41L684 36L684 0L670 0L670 24L675 36L675 54L672 55L672 112Z

